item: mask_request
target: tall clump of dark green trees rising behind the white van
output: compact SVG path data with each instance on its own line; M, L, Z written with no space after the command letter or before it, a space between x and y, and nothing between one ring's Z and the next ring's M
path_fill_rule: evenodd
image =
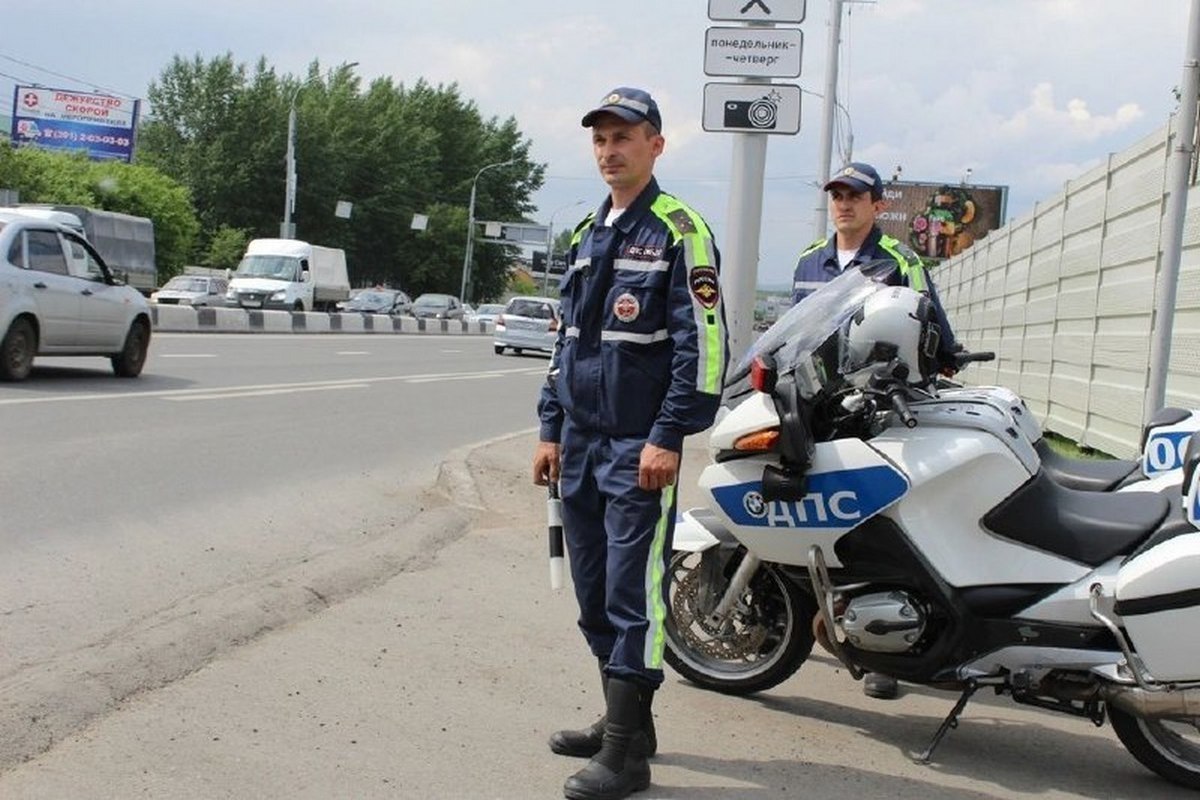
M275 236L283 216L287 118L296 112L300 239L347 251L354 283L386 281L410 293L457 294L467 239L467 204L476 172L476 219L521 221L545 167L529 161L516 120L485 120L457 85L410 88L378 78L362 90L349 65L304 78L253 71L230 55L175 56L148 91L155 119L139 138L139 158L192 190L203 224L202 251L221 225ZM338 200L353 203L341 219ZM410 228L414 213L431 219ZM480 245L475 296L506 282L509 248Z

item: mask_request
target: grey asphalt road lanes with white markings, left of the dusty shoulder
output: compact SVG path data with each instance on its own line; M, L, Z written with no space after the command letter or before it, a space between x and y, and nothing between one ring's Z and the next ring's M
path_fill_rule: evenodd
M137 380L38 359L0 384L0 716L47 726L0 735L0 766L395 572L385 534L450 513L448 453L534 426L546 365L482 336L168 333ZM335 578L290 595L318 558Z

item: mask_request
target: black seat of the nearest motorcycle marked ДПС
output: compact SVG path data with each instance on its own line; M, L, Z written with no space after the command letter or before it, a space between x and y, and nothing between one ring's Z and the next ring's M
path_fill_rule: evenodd
M983 525L997 536L1099 566L1133 552L1166 518L1170 501L1154 493L1081 492L1045 469L989 511Z

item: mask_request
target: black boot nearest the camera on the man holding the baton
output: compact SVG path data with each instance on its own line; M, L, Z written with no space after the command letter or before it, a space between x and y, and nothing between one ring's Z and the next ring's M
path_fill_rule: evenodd
M650 786L650 764L635 747L650 691L631 680L608 679L608 723L600 752L582 770L566 778L569 800L620 800Z

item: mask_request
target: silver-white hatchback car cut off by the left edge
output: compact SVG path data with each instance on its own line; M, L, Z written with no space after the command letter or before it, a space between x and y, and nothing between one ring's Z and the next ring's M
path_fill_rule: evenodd
M150 306L70 228L0 211L0 379L37 355L98 355L134 378L150 349Z

